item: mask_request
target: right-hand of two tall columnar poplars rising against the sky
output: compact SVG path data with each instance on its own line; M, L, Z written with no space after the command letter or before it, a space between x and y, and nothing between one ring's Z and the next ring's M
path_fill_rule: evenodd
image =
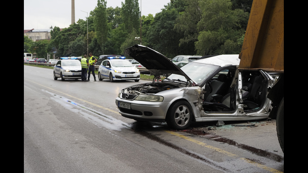
M122 2L122 21L128 33L140 30L140 10L138 0L125 0Z

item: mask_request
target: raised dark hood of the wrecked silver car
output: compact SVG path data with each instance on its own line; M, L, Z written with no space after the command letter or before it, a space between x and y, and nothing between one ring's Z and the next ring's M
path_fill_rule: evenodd
M155 77L162 74L179 74L187 80L192 81L177 65L170 61L161 53L154 51L146 46L135 44L124 51L125 56L134 58L146 69L148 69Z

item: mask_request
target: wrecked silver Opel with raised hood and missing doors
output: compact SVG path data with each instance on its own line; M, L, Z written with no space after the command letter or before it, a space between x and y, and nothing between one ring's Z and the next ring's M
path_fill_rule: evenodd
M122 89L119 113L136 121L167 122L186 129L192 122L259 120L272 110L267 93L275 78L266 72L240 72L239 55L219 55L179 68L141 45L125 50L155 76L152 82ZM168 74L161 80L161 76Z

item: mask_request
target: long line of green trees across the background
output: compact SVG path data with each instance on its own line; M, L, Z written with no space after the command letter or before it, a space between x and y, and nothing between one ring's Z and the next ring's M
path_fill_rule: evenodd
M33 42L24 36L24 49L40 58L47 53L83 56L88 43L95 56L123 55L126 48L141 43L168 58L239 54L251 5L252 0L170 0L155 17L142 15L140 20L138 0L125 0L116 8L98 0L88 19L63 30L51 26L50 40Z

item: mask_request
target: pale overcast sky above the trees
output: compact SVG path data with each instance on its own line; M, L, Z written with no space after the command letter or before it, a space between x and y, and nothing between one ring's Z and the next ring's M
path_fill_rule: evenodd
M71 24L71 0L24 0L24 30L68 28ZM107 7L122 7L125 0L106 0ZM141 2L141 3L140 3ZM141 15L161 12L170 0L139 0ZM86 20L87 13L97 6L97 0L75 0L75 22ZM85 12L82 12L85 11Z

